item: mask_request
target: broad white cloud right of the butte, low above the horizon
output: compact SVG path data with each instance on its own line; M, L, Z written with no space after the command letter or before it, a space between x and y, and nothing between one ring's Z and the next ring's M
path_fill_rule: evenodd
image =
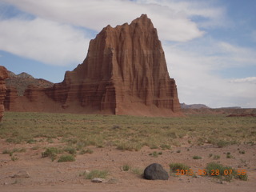
M170 76L177 82L180 102L202 103L210 107L256 107L255 77L228 79L216 73L226 67L253 65L251 61L255 57L254 54L246 54L242 51L252 53L253 50L226 43L225 45L228 45L226 50L231 55L226 56L219 54L221 51L219 45L223 43L213 41L206 44L202 41L201 45L196 44L192 47L180 44L164 45L167 66ZM198 46L201 48L198 49ZM207 50L207 47L211 49ZM238 50L242 52L239 53ZM242 54L246 54L248 58L238 62L238 57L244 56ZM220 61L222 62L218 63Z

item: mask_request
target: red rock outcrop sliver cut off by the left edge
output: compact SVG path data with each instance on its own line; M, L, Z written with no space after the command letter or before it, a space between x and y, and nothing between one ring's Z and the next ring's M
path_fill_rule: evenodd
M3 112L5 110L3 102L6 97L6 78L8 78L6 67L0 66L0 122L2 121Z

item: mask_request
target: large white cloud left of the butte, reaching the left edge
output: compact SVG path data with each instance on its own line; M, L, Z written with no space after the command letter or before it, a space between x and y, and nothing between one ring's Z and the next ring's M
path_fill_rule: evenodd
M0 49L52 65L79 63L89 38L73 27L42 18L0 20Z

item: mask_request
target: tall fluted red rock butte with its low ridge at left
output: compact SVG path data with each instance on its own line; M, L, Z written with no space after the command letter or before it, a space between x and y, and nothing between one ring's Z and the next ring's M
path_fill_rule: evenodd
M16 91L17 92L17 91ZM157 30L142 14L128 25L106 26L90 41L86 59L63 82L6 92L6 109L77 114L177 116L177 87L170 78Z

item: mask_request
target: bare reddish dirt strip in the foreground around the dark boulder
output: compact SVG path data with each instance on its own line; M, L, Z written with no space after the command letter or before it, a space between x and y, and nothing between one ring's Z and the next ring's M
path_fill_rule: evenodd
M171 150L152 150L143 147L139 151L122 151L114 147L97 148L90 146L93 154L78 154L75 162L52 162L42 158L43 147L54 146L56 142L38 144L14 144L0 140L0 191L255 191L256 189L256 145L232 145L218 148L212 145L181 146ZM25 152L15 153L16 160L9 154L2 154L6 149L25 148ZM245 151L244 154L241 151ZM150 156L154 151L158 157ZM240 151L240 152L239 152ZM230 152L233 158L226 158ZM219 155L219 159L210 158L209 154ZM194 155L202 159L193 159ZM144 170L150 163L158 162L170 171L171 162L182 162L197 173L208 162L220 162L235 169L246 170L248 181L233 179L221 182L209 176L170 176L168 181L148 181L134 169ZM124 171L122 166L129 165L132 170ZM85 170L108 170L105 182L94 183L81 174ZM29 178L15 178L19 171L26 171ZM197 175L197 174L196 174Z

